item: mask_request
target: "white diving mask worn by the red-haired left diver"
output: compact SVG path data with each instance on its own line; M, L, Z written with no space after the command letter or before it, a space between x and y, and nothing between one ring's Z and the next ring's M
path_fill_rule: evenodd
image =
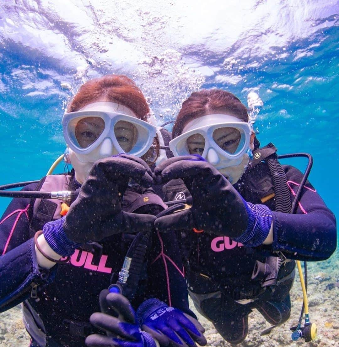
M156 134L154 125L135 117L129 108L106 101L65 113L62 125L66 143L81 162L119 153L141 157Z

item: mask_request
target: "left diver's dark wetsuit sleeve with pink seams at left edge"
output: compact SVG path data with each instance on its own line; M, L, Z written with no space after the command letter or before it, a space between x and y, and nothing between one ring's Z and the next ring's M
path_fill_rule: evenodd
M35 185L23 190L34 190ZM29 198L14 198L0 220L0 311L24 301L32 287L49 282L53 270L40 269L29 235Z

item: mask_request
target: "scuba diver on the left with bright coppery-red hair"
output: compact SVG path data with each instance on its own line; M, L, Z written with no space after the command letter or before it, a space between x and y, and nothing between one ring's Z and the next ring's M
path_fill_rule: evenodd
M120 278L136 232L151 235L130 296L130 310L139 307L138 320L131 324L127 316L132 335L122 334L123 341L111 345L131 340L155 346L139 325L156 329L156 336L162 333L167 345L172 338L181 346L206 343L188 307L175 235L153 229L155 215L167 205L154 194L146 163L152 164L161 150L149 112L142 92L126 76L83 84L62 119L65 160L72 171L25 186L3 214L0 310L23 302L31 347L85 346L86 336L100 333L89 323L90 314L100 310L99 295L100 303L106 302L108 292L100 291ZM109 294L111 310L125 300L120 293ZM159 310L163 314L155 316Z

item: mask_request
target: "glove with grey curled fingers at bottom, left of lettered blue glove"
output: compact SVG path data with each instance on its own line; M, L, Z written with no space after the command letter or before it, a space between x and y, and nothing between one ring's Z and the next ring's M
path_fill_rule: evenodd
M135 312L126 297L110 293L108 289L99 295L102 312L93 313L90 322L106 335L92 334L86 338L89 347L156 347L159 344L150 334L135 324Z

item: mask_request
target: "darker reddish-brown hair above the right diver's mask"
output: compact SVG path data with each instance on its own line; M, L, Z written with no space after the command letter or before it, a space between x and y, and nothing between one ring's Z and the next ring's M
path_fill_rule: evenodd
M248 121L247 107L234 94L220 89L203 89L192 93L183 102L173 126L172 138L181 135L189 121L199 118L211 110L226 111L244 122Z

